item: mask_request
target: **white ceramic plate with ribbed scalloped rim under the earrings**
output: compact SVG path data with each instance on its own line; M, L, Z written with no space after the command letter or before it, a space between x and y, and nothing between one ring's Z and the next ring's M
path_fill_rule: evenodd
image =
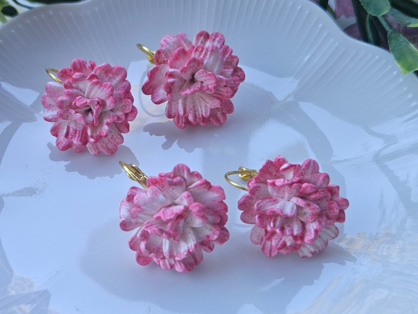
M222 126L180 130L140 92L135 46L220 31L246 80ZM46 67L81 57L128 68L138 117L112 156L61 152L43 121ZM413 313L418 305L418 82L386 51L345 36L305 0L91 0L0 28L0 312ZM350 201L312 258L265 257L223 175L284 154L318 160ZM230 239L191 273L140 266L119 229L135 184L178 162L227 195ZM4 204L3 204L4 202Z

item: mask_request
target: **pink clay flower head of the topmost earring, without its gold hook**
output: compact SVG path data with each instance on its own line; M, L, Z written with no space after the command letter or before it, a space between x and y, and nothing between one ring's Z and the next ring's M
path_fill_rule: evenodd
M245 74L224 43L221 33L206 31L199 31L193 42L185 33L161 39L153 56L156 65L148 71L142 91L155 104L168 100L166 116L180 129L209 122L221 125L234 111L230 98Z

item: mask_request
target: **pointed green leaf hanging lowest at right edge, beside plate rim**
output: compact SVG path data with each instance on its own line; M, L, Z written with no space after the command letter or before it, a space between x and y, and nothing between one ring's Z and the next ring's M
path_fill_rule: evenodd
M418 50L402 36L390 23L383 17L379 21L387 30L387 43L390 53L393 55L396 64L400 67L402 74L418 69Z

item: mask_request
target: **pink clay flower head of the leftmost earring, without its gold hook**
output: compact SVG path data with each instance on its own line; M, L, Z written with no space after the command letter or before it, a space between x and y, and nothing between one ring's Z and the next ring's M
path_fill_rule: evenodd
M137 114L126 75L120 65L74 59L70 68L57 72L58 78L53 76L56 82L48 82L42 95L43 118L54 122L51 134L60 150L117 151Z

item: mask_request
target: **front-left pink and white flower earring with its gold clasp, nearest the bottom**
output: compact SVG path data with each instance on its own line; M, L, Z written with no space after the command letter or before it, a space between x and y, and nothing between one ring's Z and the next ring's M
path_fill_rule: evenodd
M129 172L141 172L135 165L120 164L130 178ZM120 228L134 230L128 244L138 264L154 261L163 269L191 271L201 263L202 251L212 252L229 238L224 190L199 172L178 164L171 172L144 175L138 182L148 189L133 186L120 203Z

